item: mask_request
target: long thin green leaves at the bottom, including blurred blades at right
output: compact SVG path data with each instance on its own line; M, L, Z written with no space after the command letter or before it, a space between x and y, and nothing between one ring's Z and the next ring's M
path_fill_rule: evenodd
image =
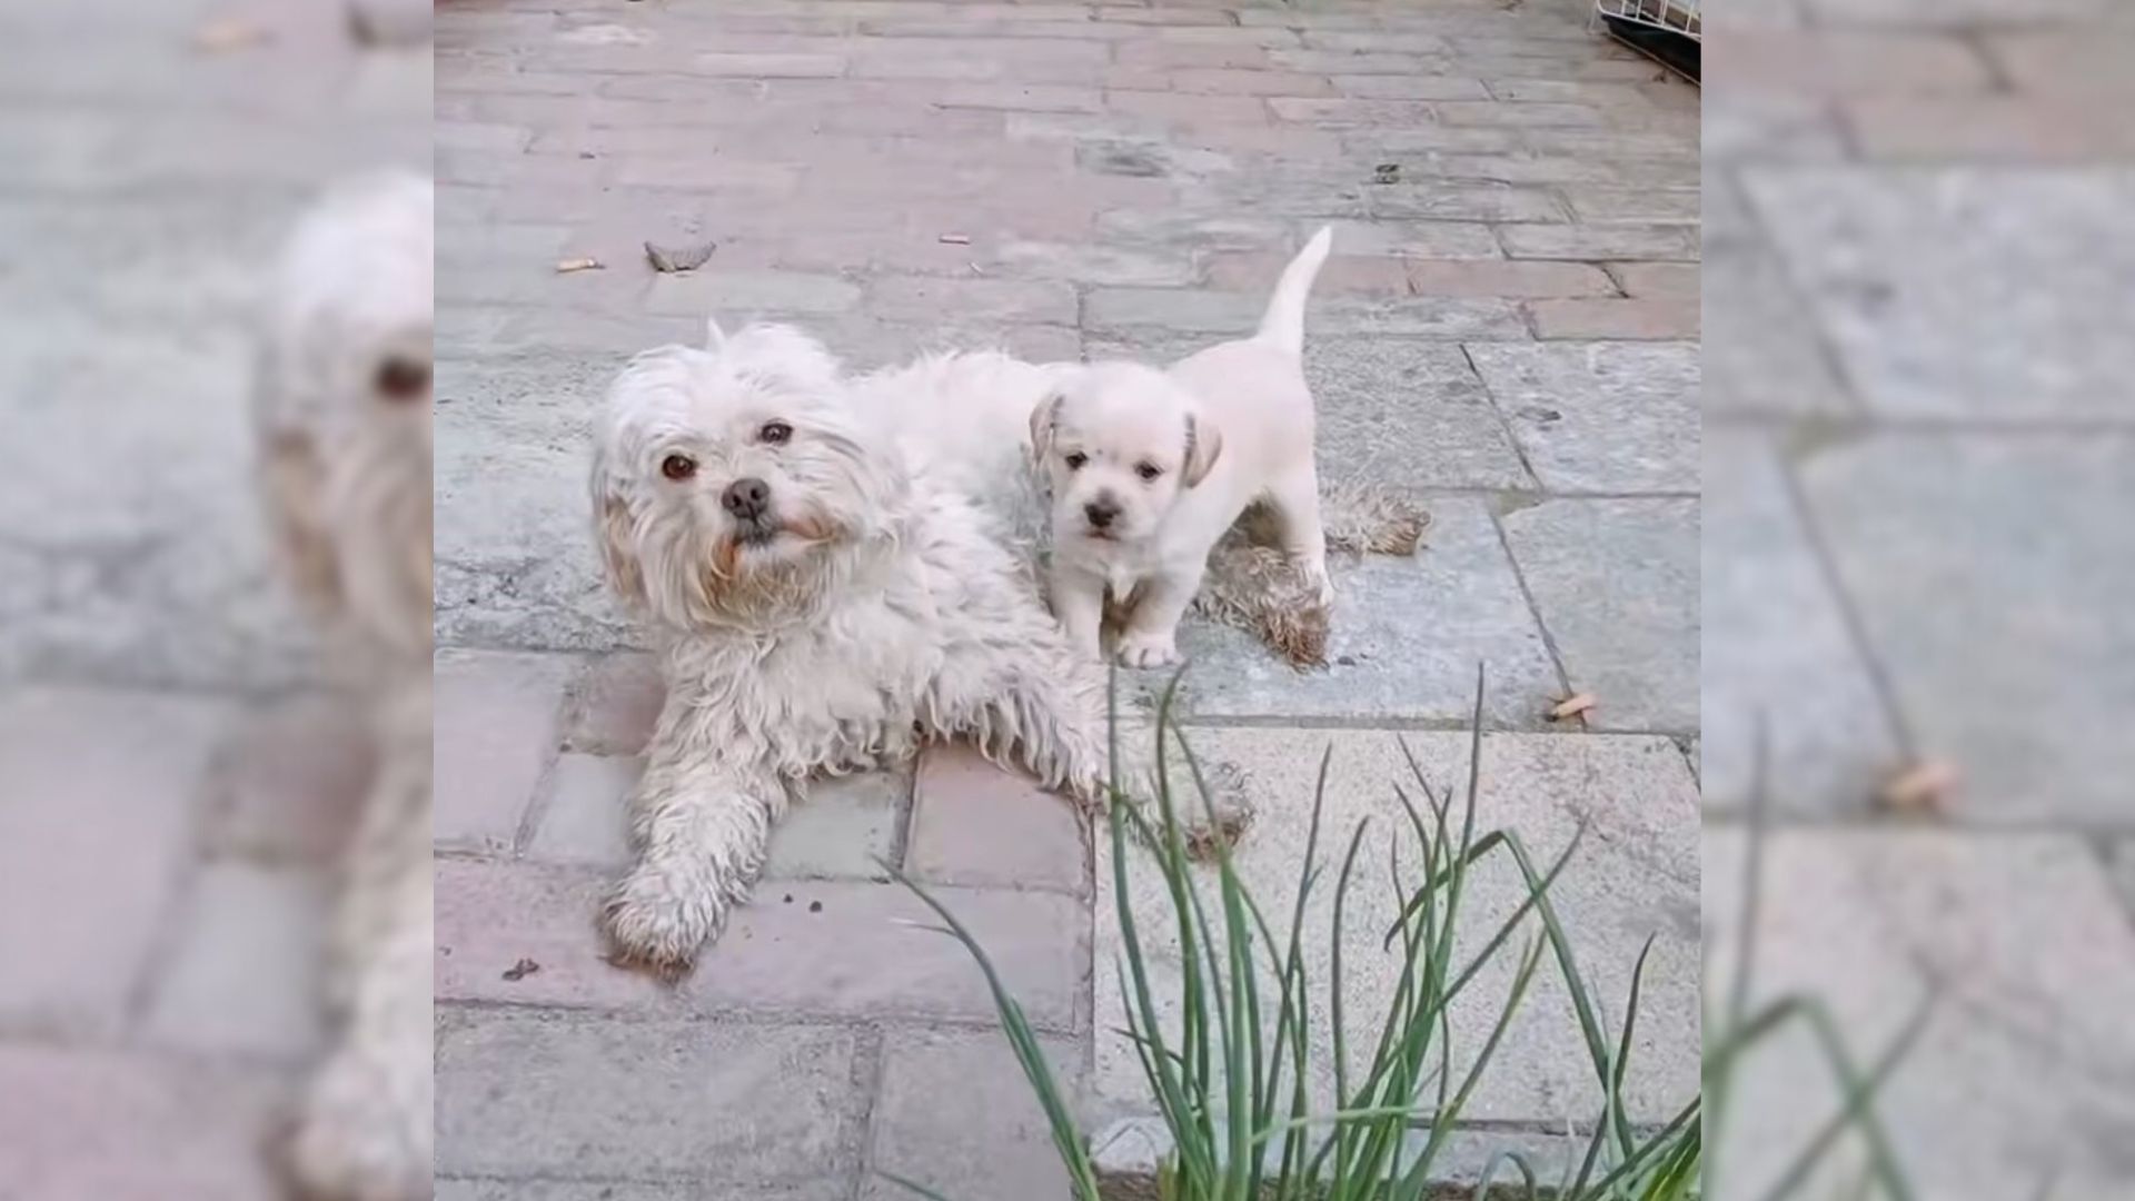
M1172 688L1176 688L1176 680ZM1537 1165L1520 1152L1503 1152L1484 1169L1482 1180L1473 1186L1473 1197L1687 1201L1710 1195L1704 1096L1725 1098L1742 1054L1787 1021L1808 1021L1819 1030L1840 1079L1847 1083L1847 1101L1840 1116L1802 1152L1796 1169L1789 1169L1787 1180L1781 1182L1783 1190L1770 1197L1789 1195L1785 1190L1800 1184L1838 1133L1851 1128L1870 1135L1877 1150L1875 1180L1883 1182L1889 1197L1909 1197L1870 1109L1870 1098L1902 1056L1902 1045L1879 1058L1868 1073L1855 1073L1821 1007L1789 998L1751 1011L1746 981L1729 994L1731 1000L1719 1017L1708 1015L1704 1092L1685 1103L1659 1128L1642 1128L1631 1120L1623 1090L1650 940L1631 974L1623 1030L1612 1039L1595 992L1580 972L1571 940L1550 902L1550 887L1571 861L1580 838L1573 838L1548 868L1537 868L1516 831L1475 831L1482 701L1484 680L1477 671L1469 774L1458 804L1430 786L1403 744L1409 782L1396 782L1394 795L1405 814L1405 833L1420 855L1407 883L1398 885L1403 904L1398 919L1386 932L1386 947L1398 953L1394 1000L1375 1024L1377 1036L1360 1073L1351 1073L1351 1015L1345 1013L1339 949L1343 947L1345 902L1364 846L1362 823L1349 833L1341 855L1328 932L1337 951L1326 981L1326 1017L1332 1030L1330 1071L1337 1094L1332 1111L1313 1111L1307 1096L1311 1069L1307 1034L1313 1028L1315 989L1307 979L1302 957L1302 940L1309 936L1304 930L1307 898L1322 880L1324 868L1319 863L1319 833L1332 748L1319 763L1311 831L1285 936L1277 936L1266 913L1240 883L1225 846L1215 848L1213 895L1204 895L1208 889L1198 880L1200 872L1196 872L1168 776L1159 776L1146 810L1136 808L1129 797L1114 791L1108 806L1108 833L1110 870L1119 898L1117 921L1123 940L1123 960L1117 964L1125 994L1125 1028L1121 1032L1140 1056L1149 1096L1172 1137L1172 1152L1159 1169L1159 1197L1166 1201L1420 1201L1441 1197L1443 1184L1433 1180L1433 1169L1439 1167L1439 1156L1445 1152L1460 1113L1484 1079L1501 1036L1544 962L1554 966L1571 996L1586 1058L1599 1086L1601 1113L1580 1152L1567 1158L1556 1180L1544 1180ZM1166 746L1164 739L1179 735L1170 720L1170 703L1172 690L1166 690L1157 707L1155 737L1159 748ZM1215 812L1200 765L1183 739L1179 739L1179 750L1204 812L1213 821ZM1168 754L1159 754L1159 761L1168 759ZM1140 923L1149 915L1134 913L1127 900L1132 895L1127 889L1129 863L1142 857L1138 848L1146 851L1146 859L1170 895L1168 919L1179 940L1183 968L1176 1039L1166 1032L1159 1017L1144 957ZM1518 870L1527 883L1527 895L1516 913L1497 923L1473 953L1462 953L1462 947L1456 947L1456 925L1469 874L1490 857L1509 861ZM1401 880L1398 859L1394 872ZM1097 1201L1097 1171L1089 1145L1076 1128L1068 1098L1038 1047L1023 1009L1001 985L993 962L971 938L971 932L924 887L901 874L897 878L942 917L942 932L961 940L978 962L993 989L1010 1047L1046 1113L1072 1195L1076 1201ZM1450 1004L1477 981L1488 964L1507 953L1524 925L1539 925L1539 934L1527 936L1497 1021L1456 1079ZM1721 1105L1714 1103L1712 1109L1717 1120ZM892 1180L918 1195L944 1201L920 1184Z

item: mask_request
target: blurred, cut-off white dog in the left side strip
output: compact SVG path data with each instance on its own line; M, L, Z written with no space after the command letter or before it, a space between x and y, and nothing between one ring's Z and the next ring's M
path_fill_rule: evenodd
M265 506L297 590L352 652L378 774L329 947L342 1034L288 1145L305 1192L431 1195L429 180L382 175L295 231L254 380Z

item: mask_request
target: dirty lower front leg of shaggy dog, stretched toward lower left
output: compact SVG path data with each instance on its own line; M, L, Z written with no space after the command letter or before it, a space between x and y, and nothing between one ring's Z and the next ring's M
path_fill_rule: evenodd
M764 865L786 786L754 763L700 752L653 761L630 797L638 861L606 906L623 960L679 974L717 938Z

